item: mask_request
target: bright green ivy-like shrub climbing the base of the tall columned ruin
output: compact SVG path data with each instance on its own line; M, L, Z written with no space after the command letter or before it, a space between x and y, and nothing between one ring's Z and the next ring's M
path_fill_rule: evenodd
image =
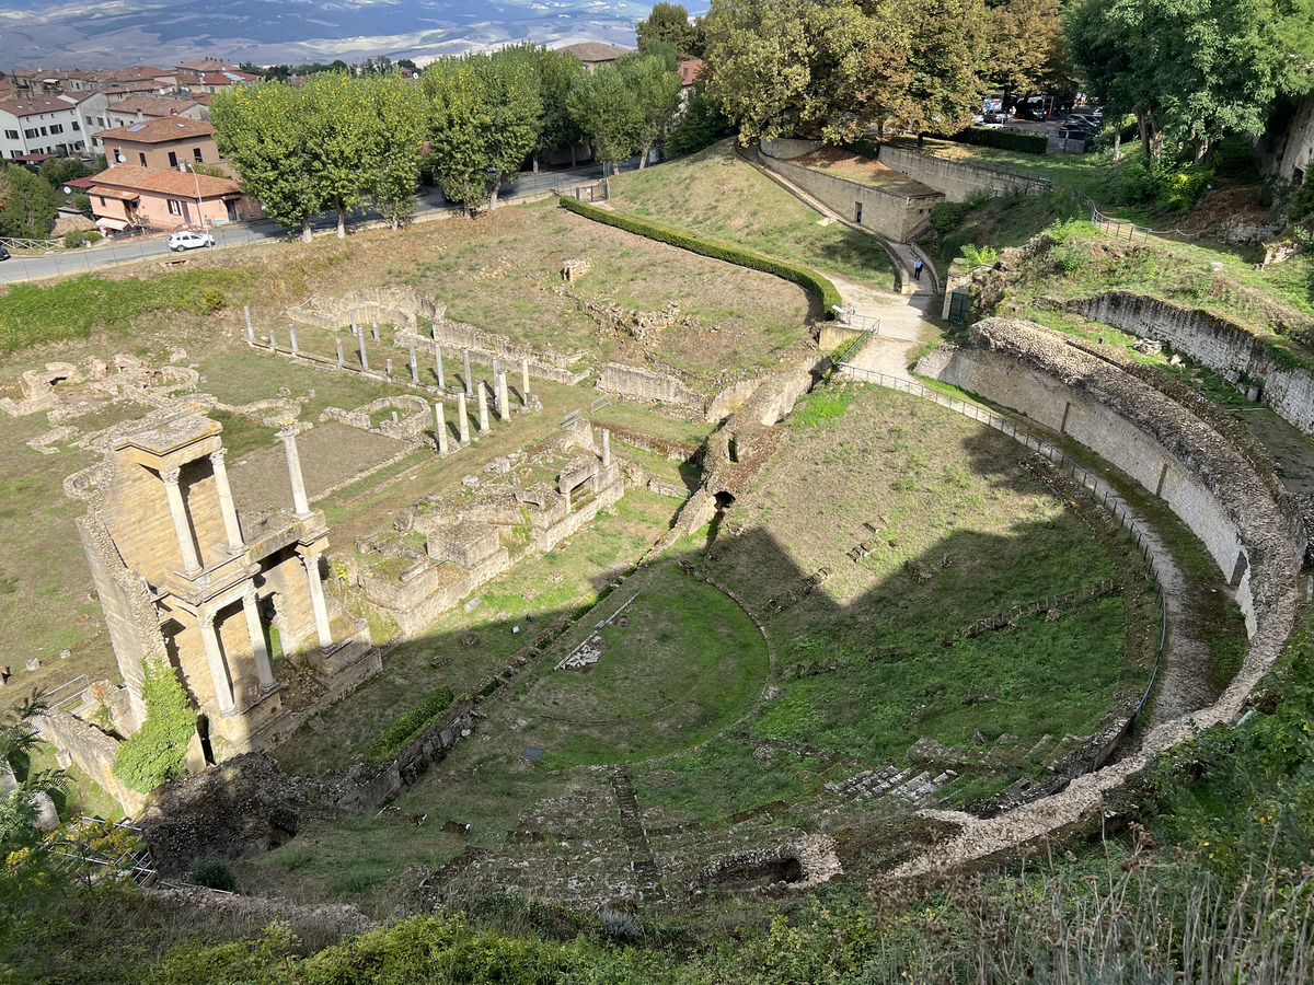
M142 696L146 721L120 745L114 776L138 793L150 793L187 772L183 758L196 730L196 712L173 668L163 661L142 665Z

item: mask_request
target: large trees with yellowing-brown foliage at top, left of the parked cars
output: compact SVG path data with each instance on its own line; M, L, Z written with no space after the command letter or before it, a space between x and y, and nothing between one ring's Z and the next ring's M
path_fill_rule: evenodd
M708 95L745 142L953 131L987 87L1072 88L1059 0L712 0L700 29Z

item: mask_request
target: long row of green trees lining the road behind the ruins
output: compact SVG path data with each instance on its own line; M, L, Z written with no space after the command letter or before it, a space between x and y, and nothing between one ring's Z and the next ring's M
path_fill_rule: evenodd
M552 147L589 141L606 163L657 144L679 104L675 50L654 45L590 74L533 45L444 58L419 85L396 72L325 72L215 96L221 152L265 211L310 238L310 218L371 202L394 227L413 214L422 168L466 210Z

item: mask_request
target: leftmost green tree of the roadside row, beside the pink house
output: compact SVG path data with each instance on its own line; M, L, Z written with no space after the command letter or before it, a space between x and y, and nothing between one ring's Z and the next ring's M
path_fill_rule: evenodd
M238 169L242 189L275 221L301 226L304 243L310 218L326 205L302 126L306 102L301 89L269 81L233 85L210 104L219 152Z

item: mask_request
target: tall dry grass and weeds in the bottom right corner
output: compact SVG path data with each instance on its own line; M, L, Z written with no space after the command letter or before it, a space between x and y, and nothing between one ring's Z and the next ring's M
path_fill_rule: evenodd
M1314 868L1271 862L1227 888L1188 854L1102 875L972 881L882 935L855 980L1004 985L1314 981Z

